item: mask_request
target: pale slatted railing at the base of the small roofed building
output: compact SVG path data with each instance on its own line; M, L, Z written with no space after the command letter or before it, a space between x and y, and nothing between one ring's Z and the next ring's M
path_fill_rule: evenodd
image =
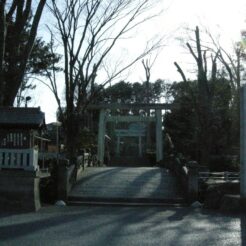
M0 169L37 171L39 170L38 150L0 149Z

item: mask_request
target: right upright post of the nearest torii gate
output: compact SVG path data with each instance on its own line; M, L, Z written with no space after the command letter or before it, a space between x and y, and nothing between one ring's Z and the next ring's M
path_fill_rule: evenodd
M155 115L156 115L156 162L159 162L163 159L161 109L157 109L155 111Z

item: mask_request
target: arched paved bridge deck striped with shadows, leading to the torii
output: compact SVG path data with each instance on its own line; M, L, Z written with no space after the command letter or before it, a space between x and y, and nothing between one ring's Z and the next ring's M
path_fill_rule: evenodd
M69 195L70 200L179 201L176 178L158 167L87 168Z

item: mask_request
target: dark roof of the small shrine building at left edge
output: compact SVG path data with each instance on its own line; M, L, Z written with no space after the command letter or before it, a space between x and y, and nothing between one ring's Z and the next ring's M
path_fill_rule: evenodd
M45 126L45 114L38 108L0 107L0 126Z

